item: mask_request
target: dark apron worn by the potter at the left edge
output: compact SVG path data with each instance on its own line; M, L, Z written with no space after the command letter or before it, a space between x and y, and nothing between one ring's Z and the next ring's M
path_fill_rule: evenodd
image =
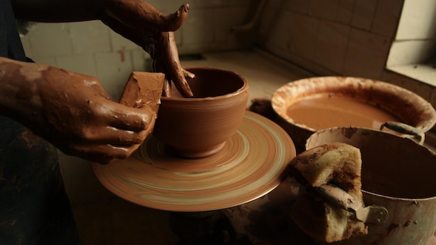
M26 61L10 0L0 0L0 56ZM79 244L56 148L3 116L0 244Z

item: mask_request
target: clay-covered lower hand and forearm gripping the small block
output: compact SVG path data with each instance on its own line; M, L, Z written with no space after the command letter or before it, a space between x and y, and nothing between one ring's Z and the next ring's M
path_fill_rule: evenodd
M108 163L129 157L150 134L150 108L112 101L95 77L0 58L0 113L68 155Z

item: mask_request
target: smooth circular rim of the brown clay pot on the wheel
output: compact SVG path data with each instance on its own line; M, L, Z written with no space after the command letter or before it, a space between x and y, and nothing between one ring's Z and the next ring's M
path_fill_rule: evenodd
M192 67L186 67L184 68L185 70L193 70L193 69L202 69L202 70L214 70L217 72L224 72L227 74L231 74L234 75L235 77L240 78L240 80L242 81L242 86L240 88L238 88L238 90L235 90L232 93L226 93L225 95L218 95L218 96L213 96L213 97L190 97L190 98L186 98L186 97L161 97L161 100L168 100L168 101L189 101L189 102L196 102L196 101L202 101L204 102L205 100L223 100L226 99L228 97L235 97L237 95L240 95L242 93L248 93L249 90L249 84L247 82L247 80L242 77L242 75L236 73L236 72L232 72L230 70L224 70L224 69L220 69L220 68L210 68L207 66L192 66ZM176 89L176 88L173 88Z

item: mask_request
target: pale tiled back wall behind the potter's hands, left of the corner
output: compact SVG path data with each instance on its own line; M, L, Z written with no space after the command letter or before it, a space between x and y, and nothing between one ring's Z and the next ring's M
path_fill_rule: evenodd
M247 36L231 31L250 18L250 0L150 0L162 13L189 3L188 18L176 31L180 54L246 47ZM22 38L27 56L74 72L98 77L109 95L118 99L132 70L149 68L146 52L100 21L37 24Z

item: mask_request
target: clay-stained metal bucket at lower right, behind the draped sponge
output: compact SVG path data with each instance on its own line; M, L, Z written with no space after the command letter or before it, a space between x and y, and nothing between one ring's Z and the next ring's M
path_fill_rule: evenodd
M387 132L357 127L322 129L306 149L342 142L361 150L364 203L380 205L387 220L368 224L368 235L334 244L428 245L436 229L436 154Z

